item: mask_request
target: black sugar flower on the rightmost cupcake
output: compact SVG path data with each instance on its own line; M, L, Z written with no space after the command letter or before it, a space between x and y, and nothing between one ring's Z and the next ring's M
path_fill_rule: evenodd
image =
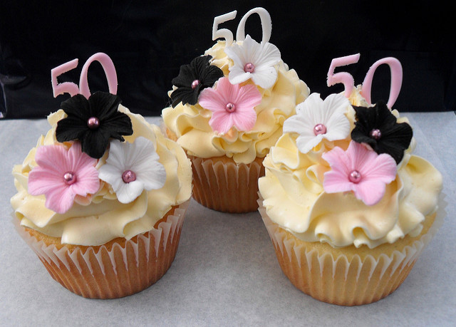
M353 108L357 121L351 131L352 140L367 143L379 155L387 153L399 163L412 140L413 131L410 125L398 123L395 115L383 102L371 108Z

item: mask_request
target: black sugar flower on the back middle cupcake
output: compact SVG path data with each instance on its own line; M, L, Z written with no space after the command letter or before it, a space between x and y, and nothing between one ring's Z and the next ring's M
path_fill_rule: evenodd
M209 65L212 56L200 56L190 65L180 66L179 76L172 79L177 89L171 93L172 107L182 104L195 105L198 95L204 88L212 88L215 82L223 77L222 69Z

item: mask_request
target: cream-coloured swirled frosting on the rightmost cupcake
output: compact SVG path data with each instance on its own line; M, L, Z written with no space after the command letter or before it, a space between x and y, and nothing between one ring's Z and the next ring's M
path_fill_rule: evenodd
M351 95L353 105L366 105L359 87ZM398 122L397 110L393 114ZM355 113L348 106L346 117L352 128ZM284 133L264 160L266 175L259 179L266 213L273 222L305 242L327 242L331 246L370 248L410 235L420 234L425 217L437 210L442 175L421 157L412 155L415 140L405 151L393 182L383 198L368 206L352 192L328 194L323 190L323 174L330 170L321 158L333 147L348 148L345 140L323 140L307 154L296 147L296 133Z

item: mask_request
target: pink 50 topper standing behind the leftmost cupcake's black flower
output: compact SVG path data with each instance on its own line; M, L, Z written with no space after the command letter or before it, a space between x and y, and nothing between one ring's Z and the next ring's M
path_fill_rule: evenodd
M56 68L51 69L51 83L54 98L57 95L63 93L69 93L71 96L81 93L86 98L90 97L90 89L88 88L87 73L90 63L93 61L98 61L105 71L106 80L108 81L109 93L117 93L117 74L115 73L114 63L109 58L106 53L95 53L93 56L88 58L86 63L84 63L83 69L81 71L81 77L79 78L79 86L72 82L58 83L57 77L61 76L63 73L71 71L72 69L78 66L78 59L73 59L68 61L68 63L63 63Z

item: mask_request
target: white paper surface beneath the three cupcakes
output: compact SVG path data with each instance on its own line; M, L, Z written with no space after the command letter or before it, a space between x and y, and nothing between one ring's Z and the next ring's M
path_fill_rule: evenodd
M1 120L0 324L2 326L454 326L456 323L456 115L402 113L415 154L444 177L447 217L390 296L353 308L312 299L282 273L258 212L224 214L192 200L167 274L149 289L90 300L64 289L16 234L11 170L48 130L46 120ZM161 123L160 118L146 118Z

